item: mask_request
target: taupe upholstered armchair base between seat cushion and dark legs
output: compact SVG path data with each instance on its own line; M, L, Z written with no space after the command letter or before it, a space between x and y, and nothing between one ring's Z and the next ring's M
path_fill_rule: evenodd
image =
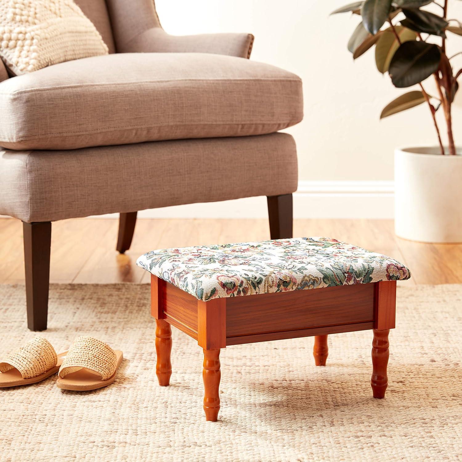
M25 222L290 194L289 134L174 140L78 151L0 150L0 214Z

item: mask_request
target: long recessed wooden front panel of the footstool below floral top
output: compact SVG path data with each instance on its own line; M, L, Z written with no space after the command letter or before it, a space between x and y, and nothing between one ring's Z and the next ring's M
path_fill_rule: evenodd
M227 298L226 336L267 334L374 319L374 285Z

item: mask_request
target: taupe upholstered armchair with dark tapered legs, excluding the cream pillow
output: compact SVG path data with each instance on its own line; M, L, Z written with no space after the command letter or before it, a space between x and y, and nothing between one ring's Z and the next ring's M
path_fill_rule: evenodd
M28 326L47 326L51 222L266 195L292 235L300 79L252 62L253 36L169 36L152 0L76 0L109 55L8 78L0 61L0 214L24 222Z

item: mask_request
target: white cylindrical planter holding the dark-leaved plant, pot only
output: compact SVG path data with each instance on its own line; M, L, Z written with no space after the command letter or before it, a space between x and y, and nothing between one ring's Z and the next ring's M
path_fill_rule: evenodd
M395 232L433 243L462 242L462 152L438 147L395 150Z

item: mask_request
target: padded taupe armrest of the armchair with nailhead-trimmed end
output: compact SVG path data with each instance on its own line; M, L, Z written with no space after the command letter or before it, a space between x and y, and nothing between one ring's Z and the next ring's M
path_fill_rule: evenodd
M201 34L174 36L161 27L145 30L126 43L122 53L215 53L249 58L252 34Z

